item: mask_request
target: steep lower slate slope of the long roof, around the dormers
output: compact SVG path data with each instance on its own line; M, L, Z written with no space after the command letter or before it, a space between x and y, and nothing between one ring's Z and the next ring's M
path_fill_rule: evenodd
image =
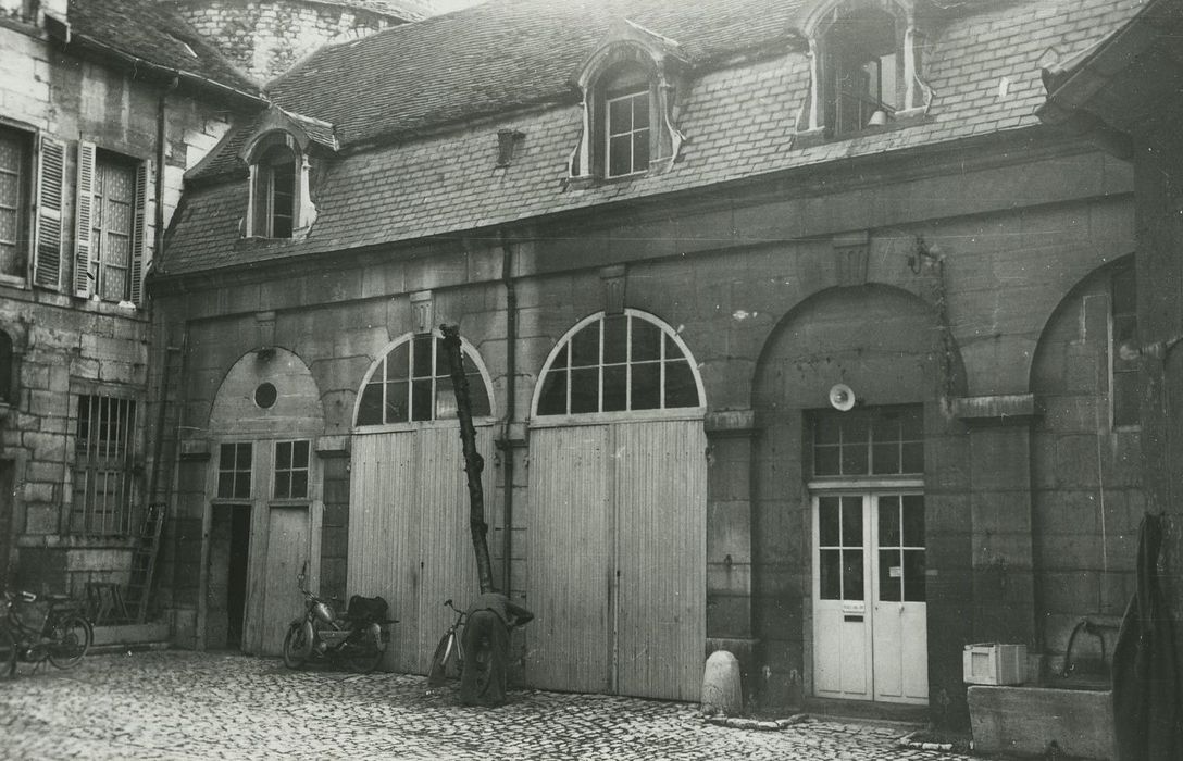
M796 143L808 60L794 51L702 72L681 110L679 128L686 135L681 160L655 176L582 189L567 186L567 161L581 129L581 108L570 103L329 162L313 189L319 215L305 240L240 239L238 220L246 211L243 183L207 186L187 195L164 269L183 273L447 234L1033 127L1039 124L1034 109L1043 102L1040 60L1048 51L1071 54L1118 27L1137 8L1137 0L1078 0L1072 7L1029 0L991 4L951 21L930 49L925 77L935 96L926 120L848 140ZM666 32L660 25L655 31ZM690 38L679 41L690 47ZM525 137L512 163L497 168L502 128Z

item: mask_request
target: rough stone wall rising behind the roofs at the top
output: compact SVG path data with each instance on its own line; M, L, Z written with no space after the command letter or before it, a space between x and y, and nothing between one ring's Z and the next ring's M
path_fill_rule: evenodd
M315 0L177 0L176 6L202 37L260 83L327 44L403 22L362 7Z

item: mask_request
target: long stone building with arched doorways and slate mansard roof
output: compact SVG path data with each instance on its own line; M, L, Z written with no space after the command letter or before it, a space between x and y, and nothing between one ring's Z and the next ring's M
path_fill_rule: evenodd
M149 285L177 644L277 652L304 570L425 670L476 586L450 323L526 683L696 699L726 647L958 720L965 644L1062 666L1132 589L1133 181L1034 109L1137 7L494 0L304 59Z

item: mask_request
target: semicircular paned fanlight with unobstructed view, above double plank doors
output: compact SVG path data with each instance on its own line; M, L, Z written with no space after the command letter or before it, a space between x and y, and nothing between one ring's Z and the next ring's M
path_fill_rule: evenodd
M686 346L668 327L633 309L576 325L551 353L535 402L539 417L704 404Z

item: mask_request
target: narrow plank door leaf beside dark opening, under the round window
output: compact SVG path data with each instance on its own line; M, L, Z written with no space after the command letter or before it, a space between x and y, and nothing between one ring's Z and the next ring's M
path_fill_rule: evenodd
M309 561L308 507L271 508L267 516L267 560L264 574L260 652L283 652L287 625L299 618L304 598L296 581Z

